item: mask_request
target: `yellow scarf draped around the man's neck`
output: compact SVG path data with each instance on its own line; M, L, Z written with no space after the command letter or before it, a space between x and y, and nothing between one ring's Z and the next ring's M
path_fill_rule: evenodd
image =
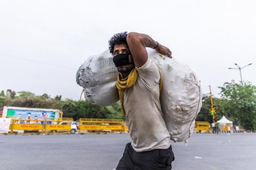
M160 88L160 94L161 94L161 92L162 92L162 74L161 74L160 70L159 70L159 73L160 73L159 88ZM122 73L119 73L117 76L117 91L119 94L119 98L120 98L121 106L122 106L122 112L124 113L124 115L125 115L125 109L123 106L123 96L124 96L125 89L133 86L135 84L135 82L137 81L137 78L138 78L138 72L137 72L136 68L131 70L131 73L126 78L123 78Z

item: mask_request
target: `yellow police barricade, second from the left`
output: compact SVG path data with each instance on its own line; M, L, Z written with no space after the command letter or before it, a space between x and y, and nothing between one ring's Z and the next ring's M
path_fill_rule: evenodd
M45 133L71 133L71 124L73 119L64 119L64 120L45 120Z

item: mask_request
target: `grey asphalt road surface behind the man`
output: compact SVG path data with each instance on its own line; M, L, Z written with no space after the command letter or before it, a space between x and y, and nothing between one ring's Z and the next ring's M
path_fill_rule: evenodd
M113 170L128 134L0 135L0 170ZM193 134L172 143L173 170L256 170L256 134Z

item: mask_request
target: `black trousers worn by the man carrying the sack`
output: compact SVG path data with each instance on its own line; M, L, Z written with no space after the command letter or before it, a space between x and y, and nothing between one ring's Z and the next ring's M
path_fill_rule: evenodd
M167 149L136 152L128 143L116 170L170 170L174 154L172 146Z

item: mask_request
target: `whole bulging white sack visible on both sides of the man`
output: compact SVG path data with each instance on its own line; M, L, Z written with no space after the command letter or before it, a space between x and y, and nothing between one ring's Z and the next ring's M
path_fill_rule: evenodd
M187 66L147 48L149 58L161 70L163 90L160 96L162 112L171 140L186 141L193 133L195 118L202 106L200 82ZM119 100L117 68L109 50L89 57L77 72L77 83L85 98L98 105L113 105Z

